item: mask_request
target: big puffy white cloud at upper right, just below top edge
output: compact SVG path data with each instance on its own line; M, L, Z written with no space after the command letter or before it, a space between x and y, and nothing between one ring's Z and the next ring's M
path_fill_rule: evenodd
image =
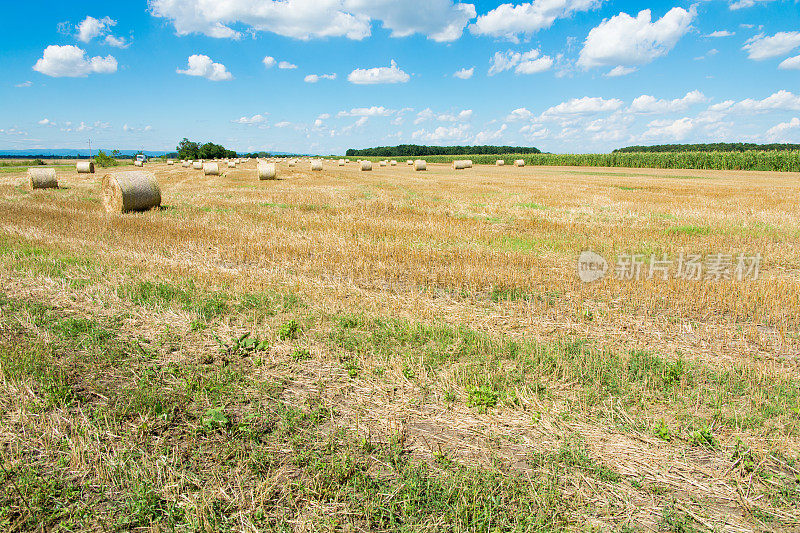
M689 31L696 13L680 7L652 21L649 9L636 18L620 13L593 28L578 59L583 68L645 65L665 56Z

